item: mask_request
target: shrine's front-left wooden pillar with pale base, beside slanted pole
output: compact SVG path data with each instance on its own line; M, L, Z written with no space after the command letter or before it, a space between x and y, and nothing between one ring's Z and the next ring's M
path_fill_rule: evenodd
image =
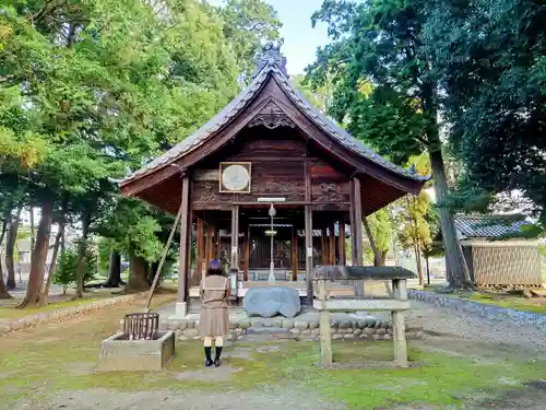
M186 316L189 300L189 272L191 249L190 177L182 176L182 213L180 215L180 249L178 263L178 298L176 315Z

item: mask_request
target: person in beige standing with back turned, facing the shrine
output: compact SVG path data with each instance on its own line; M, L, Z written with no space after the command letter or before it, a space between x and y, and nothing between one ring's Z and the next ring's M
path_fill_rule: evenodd
M201 318L199 335L203 338L205 366L218 367L224 337L229 330L229 280L223 274L222 263L211 260L206 278L201 281ZM214 340L214 361L212 360L212 342Z

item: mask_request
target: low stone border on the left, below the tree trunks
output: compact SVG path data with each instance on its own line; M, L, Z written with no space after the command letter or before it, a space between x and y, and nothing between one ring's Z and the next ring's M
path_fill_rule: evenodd
M22 330L32 326L57 321L76 316L81 313L102 309L118 304L131 304L142 298L146 292L133 293L129 295L107 297L90 303L82 303L75 306L64 306L58 309L46 311L34 315L27 315L19 318L2 320L0 318L0 336L13 330Z

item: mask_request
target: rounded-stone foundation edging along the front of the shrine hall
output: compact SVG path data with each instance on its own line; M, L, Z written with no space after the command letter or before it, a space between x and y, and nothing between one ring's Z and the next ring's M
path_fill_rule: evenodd
M369 316L360 318L351 317L344 314L332 314L330 324L332 326L332 339L360 339L360 340L391 340L392 324L390 320L376 319ZM266 332L278 333L298 340L318 340L319 315L301 315L294 319L284 317L242 318L232 320L228 340L237 340L245 332ZM168 320L161 324L162 330L173 330L177 333L178 340L200 340L198 333L199 320L182 319ZM424 336L422 328L411 328L406 326L406 337L408 339L419 339Z

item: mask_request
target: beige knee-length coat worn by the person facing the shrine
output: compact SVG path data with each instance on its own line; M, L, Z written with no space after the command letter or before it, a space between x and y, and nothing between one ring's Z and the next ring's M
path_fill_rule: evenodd
M226 336L229 331L229 279L211 274L201 281L201 337Z

